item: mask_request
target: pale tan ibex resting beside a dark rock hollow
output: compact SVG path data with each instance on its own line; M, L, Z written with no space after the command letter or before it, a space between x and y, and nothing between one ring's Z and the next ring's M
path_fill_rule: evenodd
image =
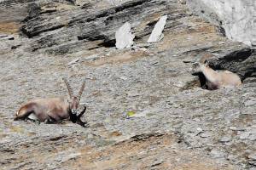
M207 88L210 90L223 87L236 87L241 85L241 79L231 71L214 71L208 65L208 56L204 56L199 62L193 64L193 72L202 72L206 77Z

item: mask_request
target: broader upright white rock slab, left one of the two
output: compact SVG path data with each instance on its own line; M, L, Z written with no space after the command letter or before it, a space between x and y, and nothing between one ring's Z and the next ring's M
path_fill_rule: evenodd
M129 22L125 22L123 26L115 32L115 47L118 49L131 48L133 44L133 38L135 36L131 34L131 25Z

